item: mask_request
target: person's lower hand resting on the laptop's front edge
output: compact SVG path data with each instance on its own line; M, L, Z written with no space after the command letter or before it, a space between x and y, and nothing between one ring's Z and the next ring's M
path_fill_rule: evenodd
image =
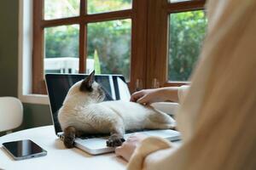
M147 138L147 135L144 134L130 136L121 146L115 149L115 154L123 157L126 161L129 161L134 150L145 138Z

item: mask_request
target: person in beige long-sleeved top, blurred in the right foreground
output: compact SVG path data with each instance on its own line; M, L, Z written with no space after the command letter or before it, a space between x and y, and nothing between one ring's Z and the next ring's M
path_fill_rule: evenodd
M207 14L201 60L177 112L183 144L132 137L116 149L128 169L256 169L256 1L209 0Z

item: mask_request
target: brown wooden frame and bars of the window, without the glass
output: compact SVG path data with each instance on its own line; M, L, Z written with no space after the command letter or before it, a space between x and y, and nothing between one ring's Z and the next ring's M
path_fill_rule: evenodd
M133 0L132 8L102 14L86 14L86 0L80 0L80 14L55 20L44 20L44 0L33 1L32 93L46 94L44 82L44 28L79 25L79 73L84 73L87 59L87 24L108 20L131 19L131 92L152 88L152 80L160 87L180 86L188 82L169 82L168 17L169 14L203 9L206 0L168 3L167 0Z

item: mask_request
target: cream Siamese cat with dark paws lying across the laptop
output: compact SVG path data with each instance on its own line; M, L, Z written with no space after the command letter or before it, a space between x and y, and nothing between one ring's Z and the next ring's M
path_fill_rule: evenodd
M122 100L103 101L101 86L89 77L76 82L68 91L58 113L64 132L64 144L72 148L76 137L84 133L110 133L108 146L121 145L125 130L174 128L171 116L148 105Z

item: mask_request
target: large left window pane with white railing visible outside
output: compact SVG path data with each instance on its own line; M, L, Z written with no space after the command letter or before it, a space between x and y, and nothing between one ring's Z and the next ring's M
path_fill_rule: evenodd
M79 72L79 26L44 29L44 72Z

